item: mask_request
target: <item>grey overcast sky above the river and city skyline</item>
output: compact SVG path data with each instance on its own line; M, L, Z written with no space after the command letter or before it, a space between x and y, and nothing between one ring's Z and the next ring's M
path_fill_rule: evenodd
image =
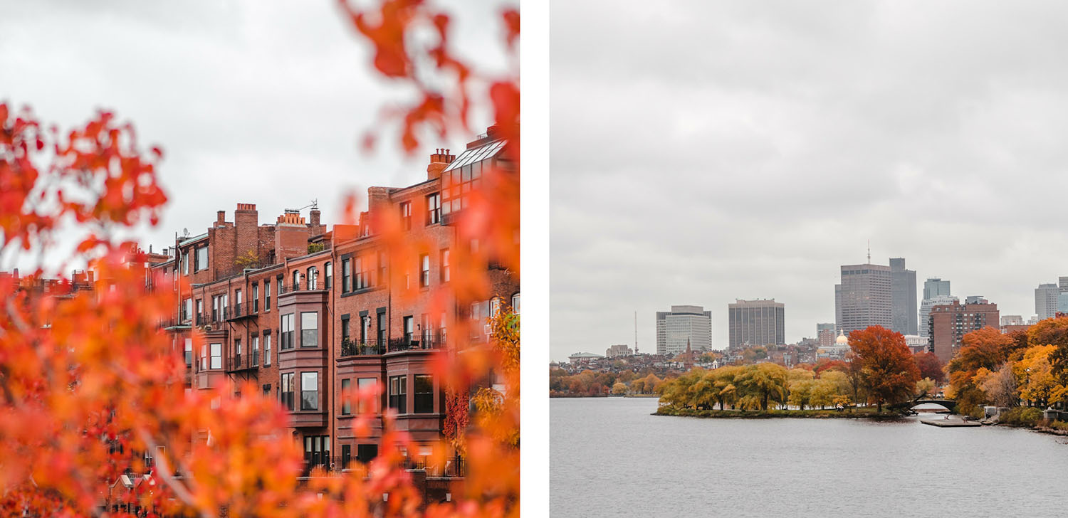
M551 357L632 344L655 312L786 304L834 321L838 266L1035 313L1068 276L1068 4L555 2Z

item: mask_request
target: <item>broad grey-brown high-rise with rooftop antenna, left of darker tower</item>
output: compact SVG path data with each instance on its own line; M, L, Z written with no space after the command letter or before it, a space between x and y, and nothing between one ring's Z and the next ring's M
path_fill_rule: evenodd
M846 334L868 326L892 329L891 284L889 266L843 265L842 283L834 285L834 314L838 329Z

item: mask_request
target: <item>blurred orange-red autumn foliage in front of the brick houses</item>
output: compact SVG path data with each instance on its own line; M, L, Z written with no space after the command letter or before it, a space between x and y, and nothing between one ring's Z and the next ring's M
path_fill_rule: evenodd
M473 134L470 112L483 98L506 139L502 157L511 167L484 173L483 187L455 221L461 238L483 246L458 251L452 293L437 303L464 308L483 300L492 282L488 264L519 271L518 75L481 77L452 51L449 16L427 3L341 5L356 32L374 46L375 69L419 92L413 105L383 112L383 123L400 122L402 148L418 148L428 129L442 139ZM505 11L502 25L504 45L515 57L518 13ZM425 28L437 40L427 47L410 45L411 34ZM424 82L427 70L420 67L427 63L447 80ZM485 95L477 93L480 84ZM392 429L389 411L378 458L348 472L314 472L301 484L302 452L287 440L288 415L273 398L251 387L240 390L241 397L224 386L184 392L184 361L158 330L174 297L152 289L158 280L146 283L143 270L127 267L143 256L115 236L141 222L156 223L167 201L155 176L161 152L143 153L132 126L110 113L65 135L41 127L28 110L16 115L0 105L0 257L49 247L61 223L69 223L66 229L80 245L64 265L88 262L108 288L45 295L34 289L40 269L19 282L0 277L0 512L99 515L107 485L126 468L140 468L144 452L156 452L157 469L138 481L138 490L125 497L129 506L119 507L119 514L518 515L518 372L502 368L515 350L462 340L469 335L465 326L483 323L457 321L450 334L453 354L442 355L437 365L436 374L456 394L468 387L503 386L499 404L476 419L467 417L466 404L450 407L468 468L452 502L422 502L399 453L410 446L409 438ZM371 220L391 255L425 245L407 241L383 215ZM514 324L518 332L518 319ZM200 336L193 339L199 346ZM370 403L375 391L347 397ZM366 428L370 419L358 417L354 428ZM443 456L445 446L435 449L435 456ZM109 511L114 509L104 512Z

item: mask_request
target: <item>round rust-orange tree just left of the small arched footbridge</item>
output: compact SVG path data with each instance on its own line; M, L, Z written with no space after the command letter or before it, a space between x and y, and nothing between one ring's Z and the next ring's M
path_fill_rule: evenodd
M870 326L850 332L849 347L857 355L852 361L860 364L868 404L875 404L882 411L883 405L912 397L920 380L920 368L901 333Z

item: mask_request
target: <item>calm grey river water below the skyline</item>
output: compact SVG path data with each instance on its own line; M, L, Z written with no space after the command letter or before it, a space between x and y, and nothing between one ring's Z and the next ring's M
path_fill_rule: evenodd
M553 398L554 517L1068 517L1068 437L853 419L650 415ZM938 417L941 419L941 417Z

